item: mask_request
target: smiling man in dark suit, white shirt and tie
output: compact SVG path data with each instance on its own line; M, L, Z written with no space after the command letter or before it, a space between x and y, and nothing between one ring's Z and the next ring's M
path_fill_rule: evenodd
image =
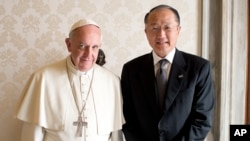
M144 22L153 51L127 62L121 75L126 141L203 141L214 109L210 63L176 48L181 27L174 8L156 6Z

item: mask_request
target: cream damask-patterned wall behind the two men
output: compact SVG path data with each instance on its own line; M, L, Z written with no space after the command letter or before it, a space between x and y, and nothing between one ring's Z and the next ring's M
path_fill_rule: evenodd
M151 51L143 18L161 3L179 10L178 48L199 54L199 0L0 0L0 140L19 140L13 112L24 84L37 68L68 55L64 39L74 21L88 16L101 25L105 67L120 75L126 61Z

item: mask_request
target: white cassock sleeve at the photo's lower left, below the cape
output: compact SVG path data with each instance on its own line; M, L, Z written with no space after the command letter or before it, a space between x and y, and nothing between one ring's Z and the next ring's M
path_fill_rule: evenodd
M21 141L43 141L44 131L41 126L23 122Z

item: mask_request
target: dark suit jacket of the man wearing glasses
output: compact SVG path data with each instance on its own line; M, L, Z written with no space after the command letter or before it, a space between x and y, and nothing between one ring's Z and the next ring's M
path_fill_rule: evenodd
M123 66L126 141L202 141L212 125L210 63L176 49L160 112L152 53Z

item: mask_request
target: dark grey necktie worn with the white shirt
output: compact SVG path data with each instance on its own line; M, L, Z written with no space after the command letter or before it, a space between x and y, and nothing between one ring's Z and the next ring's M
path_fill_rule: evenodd
M166 90L166 83L167 83L167 74L164 71L163 67L168 61L166 59L160 60L158 63L160 67L156 73L156 81L158 87L158 95L159 95L159 102L160 108L163 109L164 99L165 99L165 90Z

